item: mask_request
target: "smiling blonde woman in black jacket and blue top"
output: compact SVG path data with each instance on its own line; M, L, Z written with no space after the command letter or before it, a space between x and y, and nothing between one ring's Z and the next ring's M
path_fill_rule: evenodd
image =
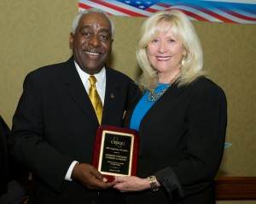
M224 91L202 71L201 43L178 10L150 16L137 48L143 70L125 126L140 136L137 177L116 177L126 203L212 204L224 150Z

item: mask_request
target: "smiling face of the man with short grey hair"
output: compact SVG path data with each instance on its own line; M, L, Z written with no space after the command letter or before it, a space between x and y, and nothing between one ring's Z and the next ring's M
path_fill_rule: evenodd
M69 46L80 68L92 75L100 72L111 54L113 39L111 25L103 14L84 14L75 35L69 37Z

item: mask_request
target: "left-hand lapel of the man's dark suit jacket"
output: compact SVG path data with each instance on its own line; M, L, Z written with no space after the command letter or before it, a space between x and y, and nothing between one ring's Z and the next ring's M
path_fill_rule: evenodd
M73 58L67 61L65 71L62 72L64 83L67 87L67 92L73 101L79 105L79 108L96 124L98 120L93 106L90 103L90 98L86 93L83 82L79 77L79 73L73 62Z

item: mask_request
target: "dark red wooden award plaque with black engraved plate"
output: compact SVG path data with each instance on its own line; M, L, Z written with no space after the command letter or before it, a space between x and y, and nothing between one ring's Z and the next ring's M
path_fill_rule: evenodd
M109 181L137 174L138 134L125 127L101 126L96 132L93 166Z

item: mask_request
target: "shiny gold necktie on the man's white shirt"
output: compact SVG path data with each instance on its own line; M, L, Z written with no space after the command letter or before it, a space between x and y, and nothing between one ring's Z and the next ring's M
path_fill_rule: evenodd
M91 75L89 77L89 81L90 81L89 98L94 107L94 110L96 111L96 116L98 118L98 121L101 124L103 107L102 107L102 100L96 90L96 81L97 81L96 77Z

